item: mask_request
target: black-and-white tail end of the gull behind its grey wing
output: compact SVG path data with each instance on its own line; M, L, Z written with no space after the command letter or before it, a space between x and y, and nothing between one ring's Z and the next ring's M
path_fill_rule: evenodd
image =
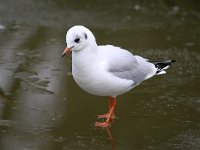
M165 70L169 68L173 62L176 62L176 61L166 60L166 61L150 61L150 62L153 63L157 69L156 75L160 75L160 74L165 74L166 73Z

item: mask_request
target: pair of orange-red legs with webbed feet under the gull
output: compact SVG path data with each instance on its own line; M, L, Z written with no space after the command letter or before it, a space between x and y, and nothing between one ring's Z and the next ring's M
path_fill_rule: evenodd
M114 97L114 100L112 100L111 97L109 99L109 111L107 114L105 115L101 115L103 116L102 118L106 118L106 121L105 122L96 122L95 123L95 126L96 127L108 127L110 125L110 122L114 119L114 110L115 110L115 107L116 107L116 104L117 104L117 99L116 97ZM99 115L100 116L100 115Z

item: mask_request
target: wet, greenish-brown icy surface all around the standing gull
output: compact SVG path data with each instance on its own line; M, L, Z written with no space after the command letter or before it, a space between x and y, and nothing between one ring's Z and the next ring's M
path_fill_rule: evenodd
M61 59L66 31L76 24L99 44L177 61L118 97L109 130L93 126L108 98L82 91L70 56ZM1 1L0 149L200 149L199 39L198 0Z

